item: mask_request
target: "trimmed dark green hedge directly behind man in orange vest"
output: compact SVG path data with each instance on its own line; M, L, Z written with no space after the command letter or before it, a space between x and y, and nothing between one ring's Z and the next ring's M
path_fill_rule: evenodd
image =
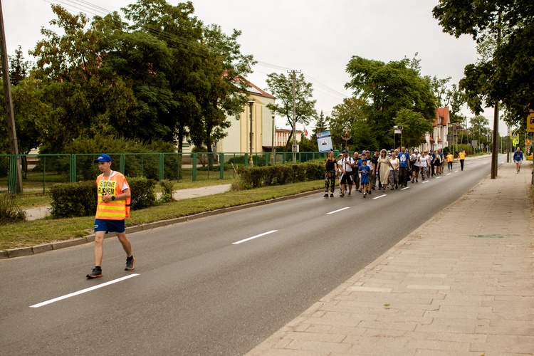
M144 209L156 204L156 181L147 178L127 178L132 190L132 210ZM90 216L96 212L98 201L95 181L56 184L50 189L51 215L56 218Z

